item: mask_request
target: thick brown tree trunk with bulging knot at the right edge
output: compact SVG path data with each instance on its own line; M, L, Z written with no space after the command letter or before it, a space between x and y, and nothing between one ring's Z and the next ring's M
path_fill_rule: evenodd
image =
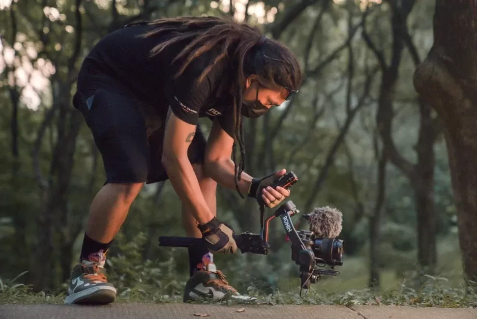
M465 277L477 279L477 3L436 0L434 45L414 86L444 125Z

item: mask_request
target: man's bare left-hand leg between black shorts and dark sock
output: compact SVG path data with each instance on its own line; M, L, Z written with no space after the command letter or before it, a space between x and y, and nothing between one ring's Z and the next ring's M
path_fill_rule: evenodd
M86 230L88 236L100 243L111 242L143 185L144 183L104 185L91 203Z

